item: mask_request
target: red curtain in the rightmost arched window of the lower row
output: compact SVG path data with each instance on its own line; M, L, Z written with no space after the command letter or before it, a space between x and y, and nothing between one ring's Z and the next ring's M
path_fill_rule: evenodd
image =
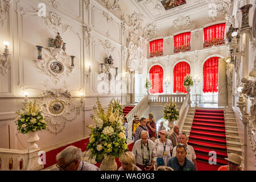
M204 63L204 88L203 92L218 92L218 59L210 57Z

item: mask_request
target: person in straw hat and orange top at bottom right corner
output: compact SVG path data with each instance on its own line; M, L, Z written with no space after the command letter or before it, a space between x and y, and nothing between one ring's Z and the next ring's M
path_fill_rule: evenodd
M218 171L243 171L241 167L242 159L239 155L231 153L225 159L228 161L228 165L219 167Z

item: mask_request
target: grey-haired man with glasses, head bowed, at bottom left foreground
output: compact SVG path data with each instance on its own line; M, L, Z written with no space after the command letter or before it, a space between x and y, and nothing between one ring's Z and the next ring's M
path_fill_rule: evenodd
M75 146L69 146L56 155L56 167L60 171L101 171L93 164L82 161L82 151Z

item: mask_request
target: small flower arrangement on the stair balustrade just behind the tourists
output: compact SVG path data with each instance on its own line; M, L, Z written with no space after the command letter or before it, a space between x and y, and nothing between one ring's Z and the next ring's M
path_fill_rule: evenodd
M164 119L168 119L169 121L174 119L177 121L177 119L179 119L179 115L180 112L174 102L170 101L170 104L166 104L164 106Z

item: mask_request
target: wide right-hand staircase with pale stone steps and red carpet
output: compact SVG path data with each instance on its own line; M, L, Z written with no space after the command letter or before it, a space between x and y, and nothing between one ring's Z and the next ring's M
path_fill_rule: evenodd
M242 155L236 117L232 109L191 107L182 131L189 136L197 160L208 163L210 151L217 154L217 165L226 165L229 153ZM218 166L214 169L217 169Z

